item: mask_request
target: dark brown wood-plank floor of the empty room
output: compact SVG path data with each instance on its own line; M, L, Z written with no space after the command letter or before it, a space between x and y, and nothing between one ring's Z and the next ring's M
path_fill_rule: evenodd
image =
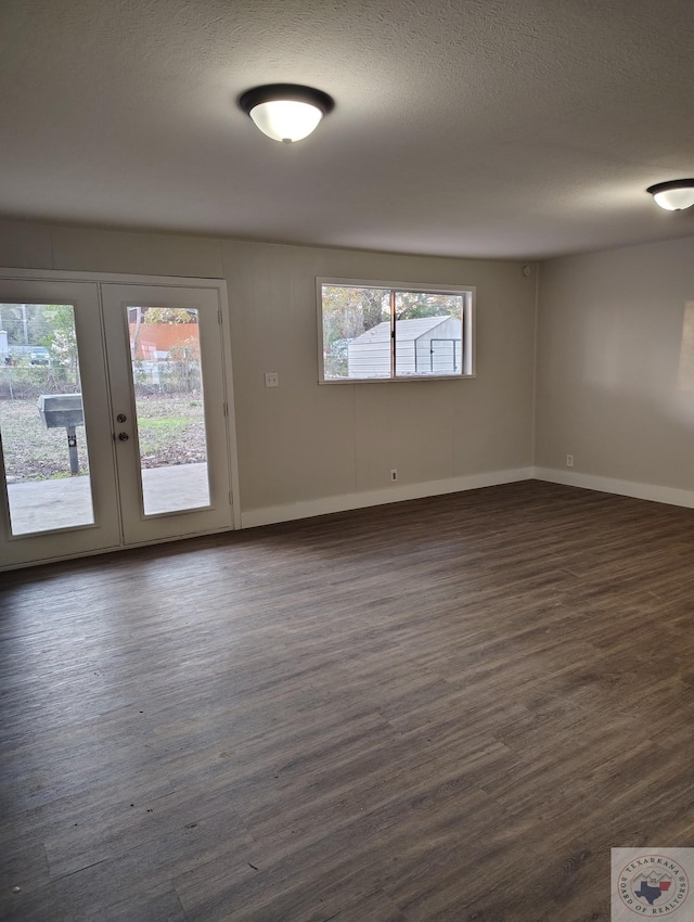
M2 580L5 920L606 922L611 847L694 845L692 510L531 482Z

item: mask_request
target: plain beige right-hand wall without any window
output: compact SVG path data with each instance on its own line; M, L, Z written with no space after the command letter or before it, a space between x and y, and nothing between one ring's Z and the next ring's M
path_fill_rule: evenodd
M694 238L549 260L539 291L540 475L692 504Z

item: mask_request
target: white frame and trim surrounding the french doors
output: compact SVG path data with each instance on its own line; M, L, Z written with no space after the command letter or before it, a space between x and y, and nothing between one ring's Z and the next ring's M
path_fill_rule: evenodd
M227 457L229 465L229 482L231 484L231 512L232 512L232 528L234 530L241 528L241 502L239 491L239 454L236 441L236 420L235 420L235 402L233 394L233 370L232 370L232 353L231 353L231 331L229 324L229 298L227 293L227 282L224 279L206 278L206 277L183 277L183 276L142 276L129 274L119 272L87 272L87 271L68 271L59 269L14 269L0 268L0 280L12 280L23 282L41 282L43 284L50 282L92 282L101 284L116 285L163 285L167 287L181 289L211 289L217 293L219 304L219 323L221 330L221 361L222 361L222 379L224 387L224 404L227 419ZM103 317L103 296L101 287L99 287L99 310ZM103 337L103 333L102 333ZM103 342L100 348L104 348ZM227 528L215 530L228 530ZM185 537L193 537L195 534L214 534L214 532L192 533ZM93 551L85 551L78 553L68 553L65 555L41 558L40 560L27 561L26 563L11 563L3 565L0 562L0 572L5 569L17 569L25 566L35 566L39 563L51 563L59 560L69 560L73 558L89 556L90 554L105 553L111 550L125 550L127 548L142 547L146 545L164 543L171 539L153 539L144 541L136 541L128 545L119 545L110 548L97 548Z

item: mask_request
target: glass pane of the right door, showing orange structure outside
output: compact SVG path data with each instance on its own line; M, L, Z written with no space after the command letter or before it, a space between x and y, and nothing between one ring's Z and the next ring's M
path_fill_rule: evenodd
M126 311L144 514L208 507L198 311Z

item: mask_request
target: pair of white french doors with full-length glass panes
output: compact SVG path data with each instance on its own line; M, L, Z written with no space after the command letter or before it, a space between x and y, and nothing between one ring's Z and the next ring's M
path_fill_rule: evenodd
M233 527L223 297L0 273L0 568Z

